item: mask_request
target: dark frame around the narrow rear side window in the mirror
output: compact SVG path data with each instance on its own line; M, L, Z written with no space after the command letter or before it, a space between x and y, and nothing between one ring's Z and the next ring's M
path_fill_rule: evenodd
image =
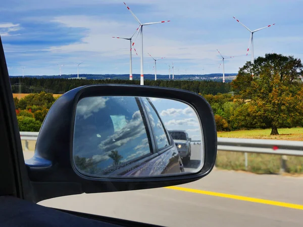
M172 148L174 143L171 141L171 137L170 137L169 134L168 134L168 130L167 130L167 128L165 127L165 125L163 124L163 121L162 121L161 117L159 116L159 113L158 113L156 107L155 107L154 104L149 100L148 97L144 97L144 98L148 101L148 103L150 104L150 106L151 106L151 107L154 109L154 111L156 112L156 115L157 115L157 117L159 118L159 120L160 120L160 122L161 122L162 128L164 129L166 138L167 138L167 140L168 140L169 145L166 146L166 147L162 147L162 148L159 149L158 143L157 143L157 139L156 139L156 134L155 134L155 132L154 132L153 127L151 127L151 122L150 122L149 116L148 116L148 114L147 114L146 106L145 106L143 100L141 99L142 105L143 105L143 107L144 107L144 109L145 109L145 112L146 112L146 115L147 115L147 119L148 119L148 123L149 123L150 129L151 129L151 132L152 132L152 134L153 134L153 138L154 138L154 142L155 142L155 146L156 146L156 152L158 152L158 153L163 153L163 152L167 151L168 149Z

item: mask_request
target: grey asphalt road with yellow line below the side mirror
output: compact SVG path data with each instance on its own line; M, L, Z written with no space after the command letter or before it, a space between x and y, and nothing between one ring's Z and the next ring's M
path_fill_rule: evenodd
M165 226L303 226L303 177L214 169L206 178L179 187L183 190L81 194L39 204Z

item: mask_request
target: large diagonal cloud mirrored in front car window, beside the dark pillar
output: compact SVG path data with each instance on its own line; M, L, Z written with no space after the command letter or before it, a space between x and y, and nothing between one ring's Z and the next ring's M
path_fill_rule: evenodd
M109 136L105 141L100 143L98 147L104 152L115 150L117 147L127 144L129 141L145 134L145 127L140 111L134 112L132 119L120 131Z

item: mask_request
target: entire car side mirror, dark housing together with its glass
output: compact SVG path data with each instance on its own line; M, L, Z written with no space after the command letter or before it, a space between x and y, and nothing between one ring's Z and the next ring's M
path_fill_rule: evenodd
M191 151L194 166L183 166L181 158L190 162L187 151L182 153L184 140L169 130L201 141ZM38 202L192 182L211 172L216 153L214 114L202 96L171 88L88 85L53 104L35 154L25 163ZM51 184L56 190L49 190Z

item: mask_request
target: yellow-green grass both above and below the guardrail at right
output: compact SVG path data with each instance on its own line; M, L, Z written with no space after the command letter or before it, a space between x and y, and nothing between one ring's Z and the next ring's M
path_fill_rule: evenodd
M278 129L280 135L270 136L271 129L239 130L233 132L218 132L218 137L276 139L303 141L303 128ZM247 154L247 170L245 170L244 153L218 151L216 166L218 168L248 171L256 174L279 174L281 155ZM289 174L303 174L303 157L288 156L287 169Z

